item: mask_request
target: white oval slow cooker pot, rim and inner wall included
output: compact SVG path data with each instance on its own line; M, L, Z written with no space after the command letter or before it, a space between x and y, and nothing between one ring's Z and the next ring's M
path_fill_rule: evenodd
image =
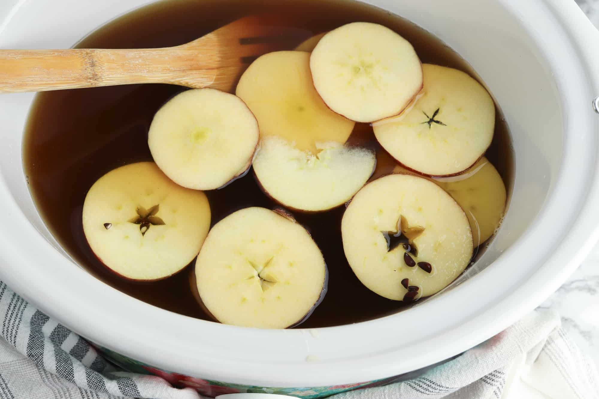
M147 2L0 2L0 48L71 47ZM232 327L128 297L78 267L35 209L21 159L32 93L0 96L0 279L125 365L199 385L311 389L313 397L325 392L318 387L331 394L443 361L534 309L599 237L599 32L574 0L367 2L470 62L512 130L509 210L482 258L449 289L395 315L317 330Z

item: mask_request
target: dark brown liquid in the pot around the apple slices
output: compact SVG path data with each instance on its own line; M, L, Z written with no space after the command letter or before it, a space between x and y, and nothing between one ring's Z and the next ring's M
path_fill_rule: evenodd
M77 47L176 46L259 10L292 17L294 25L299 24L314 34L355 21L381 23L409 40L422 62L473 74L453 50L412 23L378 8L341 0L159 2L98 29ZM147 146L152 117L168 98L181 90L184 89L167 84L144 84L40 93L26 129L23 162L29 187L46 225L89 273L149 304L182 315L209 319L189 288L192 267L159 282L121 279L95 258L81 225L84 198L99 177L121 165L152 160ZM497 167L510 192L513 180L511 140L501 114L497 115L495 138L486 156ZM379 148L368 125L356 124L351 141ZM240 208L274 208L277 205L261 192L252 173L224 189L206 194L213 223ZM341 243L343 211L344 207L340 207L320 214L295 214L322 250L330 273L325 299L301 327L349 324L390 315L401 309L401 302L374 294L352 273Z

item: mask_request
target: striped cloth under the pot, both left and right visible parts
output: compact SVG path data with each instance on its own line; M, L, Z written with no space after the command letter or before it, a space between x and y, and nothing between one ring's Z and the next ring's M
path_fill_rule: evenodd
M0 319L0 399L201 398L160 377L117 370L2 282ZM335 399L512 399L508 387L527 398L599 398L594 365L559 328L555 312L536 310L422 376Z

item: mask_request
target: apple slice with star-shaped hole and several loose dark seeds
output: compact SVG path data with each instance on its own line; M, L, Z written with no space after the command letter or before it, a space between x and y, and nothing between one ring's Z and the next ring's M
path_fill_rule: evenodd
M473 250L462 208L439 186L407 174L364 186L343 214L341 235L362 284L398 301L427 297L449 285Z

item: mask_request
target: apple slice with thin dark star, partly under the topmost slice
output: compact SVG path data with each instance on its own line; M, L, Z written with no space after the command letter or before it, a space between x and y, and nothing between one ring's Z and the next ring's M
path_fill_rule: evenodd
M491 145L495 104L458 69L424 64L423 95L397 119L374 123L374 135L398 162L429 176L470 168Z

